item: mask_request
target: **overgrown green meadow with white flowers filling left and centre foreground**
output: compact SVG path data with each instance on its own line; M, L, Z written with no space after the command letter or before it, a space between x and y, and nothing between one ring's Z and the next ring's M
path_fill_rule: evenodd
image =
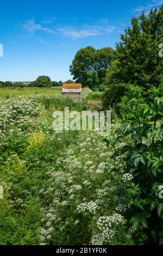
M70 97L1 104L1 245L134 245L137 233L115 191L121 173L112 169L111 147L96 131L54 132L53 110L64 106L83 109Z

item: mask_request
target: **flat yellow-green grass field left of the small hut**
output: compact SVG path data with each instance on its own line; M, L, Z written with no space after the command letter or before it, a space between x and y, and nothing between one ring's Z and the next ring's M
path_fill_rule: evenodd
M46 94L46 95L54 95L61 94L62 87L54 87L54 88L20 88L20 89L4 89L0 88L0 97L2 99L7 99L8 97L15 97L21 95L30 95L30 94Z

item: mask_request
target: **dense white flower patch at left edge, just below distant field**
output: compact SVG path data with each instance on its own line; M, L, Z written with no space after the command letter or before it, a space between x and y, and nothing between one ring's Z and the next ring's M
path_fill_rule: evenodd
M0 138L3 138L7 131L31 131L36 126L36 117L42 109L34 96L20 96L1 103Z

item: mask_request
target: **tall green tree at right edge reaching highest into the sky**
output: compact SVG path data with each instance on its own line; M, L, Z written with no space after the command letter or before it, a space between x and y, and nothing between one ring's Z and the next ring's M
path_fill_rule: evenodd
M163 8L151 10L148 17L143 12L133 18L131 28L121 35L116 46L116 60L106 75L106 83L130 83L158 87L162 79L163 59L159 56L162 42Z

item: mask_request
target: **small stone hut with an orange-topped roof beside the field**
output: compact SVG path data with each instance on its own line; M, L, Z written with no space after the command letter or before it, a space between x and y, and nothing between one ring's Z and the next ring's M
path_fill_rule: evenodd
M62 95L70 95L74 97L74 99L82 100L82 83L64 83Z

